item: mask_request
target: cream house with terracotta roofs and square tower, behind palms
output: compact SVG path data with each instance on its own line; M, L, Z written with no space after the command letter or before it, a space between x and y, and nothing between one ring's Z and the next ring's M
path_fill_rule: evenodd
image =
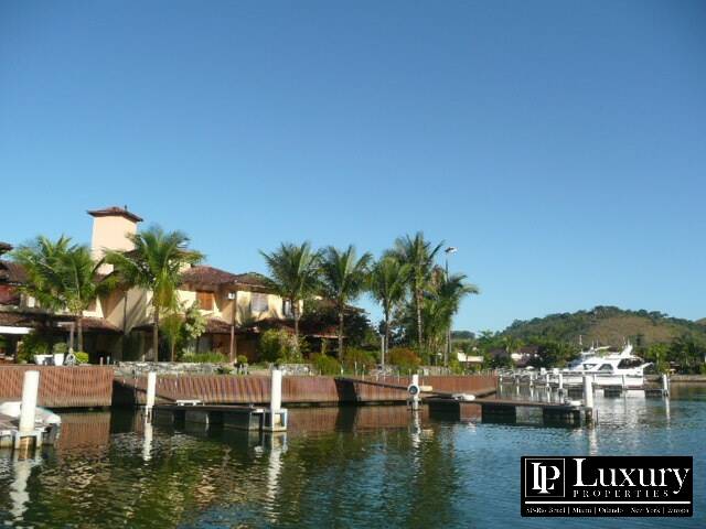
M93 217L90 250L100 259L105 251L132 249L128 237L136 234L142 218L127 207L108 207L87 212ZM12 247L0 244L0 253ZM100 273L113 272L104 264ZM17 348L23 335L43 327L68 335L72 319L43 311L31 298L20 293L25 280L21 267L0 260L0 336L4 336L6 354ZM233 273L210 266L183 270L178 291L183 306L197 303L206 317L206 330L197 341L200 352L216 350L235 358L254 359L259 334L267 328L292 327L292 311L268 285L265 277L248 272ZM85 349L94 359L138 359L154 357L151 350L151 293L140 288L117 288L100 296L84 312ZM332 337L330 331L310 330L314 337Z

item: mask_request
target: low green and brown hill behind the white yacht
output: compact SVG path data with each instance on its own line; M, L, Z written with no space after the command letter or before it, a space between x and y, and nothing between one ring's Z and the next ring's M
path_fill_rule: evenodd
M646 346L683 335L706 341L704 323L705 320L693 322L670 317L661 312L597 306L573 314L549 314L530 321L515 321L502 334L523 341L544 337L573 344L578 344L578 337L582 335L585 345L598 342L600 345L621 346L623 339L630 339L635 345Z

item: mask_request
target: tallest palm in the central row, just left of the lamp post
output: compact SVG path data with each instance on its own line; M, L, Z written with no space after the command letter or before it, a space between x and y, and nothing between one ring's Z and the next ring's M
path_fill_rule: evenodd
M424 326L421 322L421 311L424 292L427 288L434 269L434 259L443 246L443 241L437 246L424 238L421 231L417 231L413 237L406 235L395 240L395 248L392 255L396 256L400 262L409 264L409 290L415 303L417 314L417 343L419 346L419 356L422 355L424 344Z

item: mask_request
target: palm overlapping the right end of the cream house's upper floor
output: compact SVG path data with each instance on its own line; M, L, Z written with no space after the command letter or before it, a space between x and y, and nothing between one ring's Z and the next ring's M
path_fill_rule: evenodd
M299 350L299 303L310 298L319 284L320 255L310 242L300 246L282 242L277 251L260 255L269 269L268 282L282 299L289 301L295 317L296 347Z

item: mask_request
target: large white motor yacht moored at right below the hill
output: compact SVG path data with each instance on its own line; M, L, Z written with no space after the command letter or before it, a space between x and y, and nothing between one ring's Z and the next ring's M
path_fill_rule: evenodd
M554 369L553 381L561 374L565 385L581 384L585 375L592 375L597 386L644 386L644 369L651 361L644 361L632 354L632 345L627 344L621 352L610 352L608 347L591 347L569 364L567 369Z

